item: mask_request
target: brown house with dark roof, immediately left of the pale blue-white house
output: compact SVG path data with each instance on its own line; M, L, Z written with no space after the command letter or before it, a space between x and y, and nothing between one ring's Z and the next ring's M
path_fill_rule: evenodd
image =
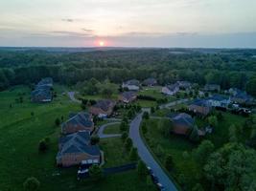
M206 99L196 99L189 105L188 109L201 116L207 116L212 111L212 108Z

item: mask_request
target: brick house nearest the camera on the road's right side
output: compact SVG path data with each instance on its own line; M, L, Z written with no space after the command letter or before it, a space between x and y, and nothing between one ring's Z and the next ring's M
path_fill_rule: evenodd
M178 135L187 136L193 128L197 128L195 120L188 114L180 113L172 117L174 123L173 132Z

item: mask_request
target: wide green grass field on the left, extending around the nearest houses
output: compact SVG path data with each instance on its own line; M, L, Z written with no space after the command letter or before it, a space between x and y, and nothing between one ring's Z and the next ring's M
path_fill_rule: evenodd
M47 104L31 103L28 87L14 87L0 93L0 190L23 190L24 180L32 176L40 181L40 191L148 190L146 182L137 180L135 170L111 175L95 183L78 181L77 167L57 168L55 158L60 128L55 125L55 119L61 116L65 119L69 112L81 110L79 104L61 96L64 90L65 87L55 86L58 97ZM20 96L23 103L16 103L15 99ZM46 153L39 154L38 142L46 137L51 139L50 148ZM105 141L102 142L108 159L105 165L115 165L118 161L119 164L126 163L128 155L124 154L122 158L118 155L121 140Z

